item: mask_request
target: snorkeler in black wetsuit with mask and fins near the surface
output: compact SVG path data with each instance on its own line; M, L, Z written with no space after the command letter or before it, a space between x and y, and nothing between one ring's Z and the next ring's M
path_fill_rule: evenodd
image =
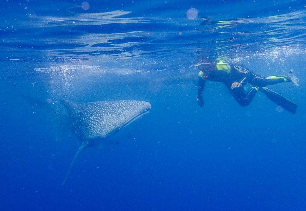
M223 82L226 88L230 91L233 98L241 106L248 106L254 98L257 91L263 92L270 100L279 106L283 107L291 113L297 110L297 104L288 100L284 96L268 89L267 85L273 85L283 82L292 82L298 86L293 76L293 71L290 70L286 76L257 76L240 64L232 64L227 61L215 62L207 58L205 62L200 63L199 69L199 82L198 82L198 95L197 103L203 107L203 90L206 80ZM253 85L248 91L245 91L244 85Z

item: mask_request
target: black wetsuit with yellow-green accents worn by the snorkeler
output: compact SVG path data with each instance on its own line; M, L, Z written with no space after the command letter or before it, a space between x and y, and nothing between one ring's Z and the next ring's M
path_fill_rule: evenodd
M264 87L287 81L286 76L258 76L241 65L231 64L226 61L222 61L223 67L227 66L226 70L218 67L218 64L220 64L220 62L217 63L215 69L211 70L207 74L208 78L201 78L199 76L197 99L198 102L202 102L202 104L200 103L201 106L203 106L202 93L206 80L223 82L226 88L230 91L231 95L241 106L248 106L251 103L258 90L258 87ZM242 86L231 89L231 85L234 82L239 82ZM244 85L247 83L252 84L253 87L246 93L244 91Z

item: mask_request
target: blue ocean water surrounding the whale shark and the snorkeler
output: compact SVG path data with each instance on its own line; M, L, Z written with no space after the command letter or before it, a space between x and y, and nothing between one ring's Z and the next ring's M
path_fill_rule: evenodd
M2 210L305 210L306 3L301 0L0 2ZM196 64L232 59L262 75L291 114L258 93L240 107ZM57 137L54 102L144 100L114 146Z

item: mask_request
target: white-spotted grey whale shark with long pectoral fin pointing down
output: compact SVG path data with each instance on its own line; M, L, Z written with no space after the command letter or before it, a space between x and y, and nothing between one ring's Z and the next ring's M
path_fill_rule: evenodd
M63 186L66 184L76 157L85 147L103 144L151 109L150 103L138 100L97 101L84 104L60 100L60 103L67 110L65 125L82 140L69 166Z

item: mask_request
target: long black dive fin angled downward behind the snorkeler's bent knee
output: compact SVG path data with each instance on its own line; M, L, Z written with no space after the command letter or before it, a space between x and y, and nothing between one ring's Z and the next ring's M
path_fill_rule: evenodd
M291 100L285 98L284 96L272 91L271 89L268 89L267 87L261 88L262 89L260 89L260 91L262 91L271 101L293 114L297 112L297 104L293 103Z

